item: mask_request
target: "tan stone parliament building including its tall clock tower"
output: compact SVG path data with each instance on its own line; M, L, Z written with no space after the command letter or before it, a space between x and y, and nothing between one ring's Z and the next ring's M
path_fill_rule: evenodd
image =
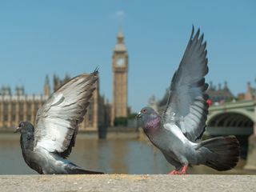
M117 42L113 50L112 72L113 102L106 102L106 99L99 93L100 84L98 82L98 87L94 91L84 121L79 125L79 130L95 131L99 127L114 126L115 118L126 118L128 115L128 52L122 31L118 32ZM68 75L63 79L54 75L52 90L58 90L69 79ZM2 86L0 89L0 130L13 129L22 121L29 121L34 124L39 107L46 102L52 92L48 75L46 75L42 89L43 94L27 95L24 86L16 86L13 94L9 86Z

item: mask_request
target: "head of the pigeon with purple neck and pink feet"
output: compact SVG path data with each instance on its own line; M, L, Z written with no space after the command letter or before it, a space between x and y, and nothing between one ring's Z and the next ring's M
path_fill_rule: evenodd
M137 118L142 122L144 130L158 128L161 122L159 114L149 106L143 107L137 114Z

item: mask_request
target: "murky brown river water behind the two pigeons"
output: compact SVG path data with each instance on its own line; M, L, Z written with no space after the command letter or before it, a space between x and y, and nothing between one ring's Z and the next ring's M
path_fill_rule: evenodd
M170 166L150 142L135 138L101 140L78 135L70 161L87 170L108 174L166 174ZM190 174L256 174L242 170L244 162L231 171L218 172L206 166L190 168ZM18 134L0 135L0 174L37 174L22 158Z

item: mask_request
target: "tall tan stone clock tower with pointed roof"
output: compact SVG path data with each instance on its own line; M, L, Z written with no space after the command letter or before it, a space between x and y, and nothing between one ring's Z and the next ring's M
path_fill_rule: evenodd
M124 44L124 36L119 30L112 56L113 71L113 106L111 124L114 125L114 118L127 117L127 72L128 53Z

